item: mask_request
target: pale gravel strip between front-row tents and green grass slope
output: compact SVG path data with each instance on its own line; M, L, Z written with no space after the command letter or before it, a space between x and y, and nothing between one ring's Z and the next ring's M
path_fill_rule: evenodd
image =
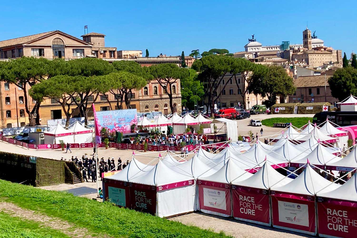
M190 213L170 218L171 221L181 222L188 226L211 229L214 232L224 231L236 238L306 238L303 234L293 234L265 226L255 226L251 223L238 222L224 217L211 216L203 213Z

